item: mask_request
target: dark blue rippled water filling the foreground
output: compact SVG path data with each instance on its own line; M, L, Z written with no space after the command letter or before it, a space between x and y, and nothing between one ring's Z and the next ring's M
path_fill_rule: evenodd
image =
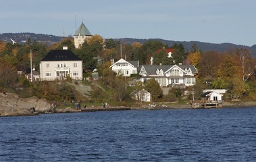
M256 107L0 117L0 161L256 161Z

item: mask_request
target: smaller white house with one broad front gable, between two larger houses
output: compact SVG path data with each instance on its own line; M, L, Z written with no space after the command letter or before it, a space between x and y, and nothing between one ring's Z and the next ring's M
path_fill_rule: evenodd
M138 73L139 66L139 61L126 61L124 59L120 59L116 61L116 63L113 63L109 68L118 75L130 76L130 74Z

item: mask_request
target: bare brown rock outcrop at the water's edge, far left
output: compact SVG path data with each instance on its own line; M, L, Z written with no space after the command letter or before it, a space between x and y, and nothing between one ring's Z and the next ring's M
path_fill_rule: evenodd
M0 94L0 116L36 115L51 109L45 99L21 98L18 94Z

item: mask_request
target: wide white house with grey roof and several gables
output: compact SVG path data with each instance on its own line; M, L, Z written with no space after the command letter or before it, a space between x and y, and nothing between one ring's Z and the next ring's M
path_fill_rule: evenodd
M142 65L139 72L141 82L154 78L160 86L193 86L197 73L194 65Z

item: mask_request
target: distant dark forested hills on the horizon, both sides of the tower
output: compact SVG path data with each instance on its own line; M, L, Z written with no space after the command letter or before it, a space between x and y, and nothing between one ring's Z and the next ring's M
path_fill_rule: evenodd
M11 39L12 39L12 40L16 41L16 43L24 44L24 43L26 43L26 41L28 41L28 38L30 38L31 42L37 41L40 43L46 43L47 45L52 45L53 43L57 43L57 42L61 41L63 36L54 36L54 35L48 35L48 34L35 34L35 33L30 33L30 32L0 34L0 40L5 41L7 43L11 43ZM199 41L190 41L190 42L168 41L168 40L159 39L159 38L152 38L152 39L114 38L113 40L121 41L122 43L140 42L142 44L149 40L154 40L154 41L160 41L161 43L168 45L169 47L174 45L174 43L177 43L177 44L182 43L184 48L188 49L188 51L190 51L190 49L194 43L196 43L198 49L201 49L203 51L226 51L228 49L247 48L256 57L256 45L249 47L249 46L244 46L244 45L235 45L232 43L215 44L215 43L203 43L203 42L199 42Z

